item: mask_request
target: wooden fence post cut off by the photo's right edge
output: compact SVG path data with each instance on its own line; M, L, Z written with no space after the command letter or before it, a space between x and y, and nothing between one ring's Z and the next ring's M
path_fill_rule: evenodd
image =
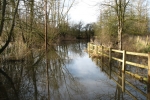
M148 86L147 86L147 97L150 100L150 53L148 53Z

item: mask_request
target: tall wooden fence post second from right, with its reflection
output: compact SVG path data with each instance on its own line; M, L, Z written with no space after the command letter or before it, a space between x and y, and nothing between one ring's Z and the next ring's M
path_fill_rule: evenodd
M125 66L126 66L126 51L123 50L122 54L122 91L125 92Z

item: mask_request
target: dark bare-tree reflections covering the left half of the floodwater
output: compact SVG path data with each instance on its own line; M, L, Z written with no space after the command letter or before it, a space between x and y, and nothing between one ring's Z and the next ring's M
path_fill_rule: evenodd
M80 48L79 48L80 47ZM57 48L49 48L48 52L48 81L50 86L50 97L52 100L73 99L74 94L83 93L81 84L71 75L65 67L72 59L69 57L69 49L74 54L82 56L83 47L75 44L60 45ZM8 98L16 100L38 100L47 99L46 59L44 53L32 50L23 62L2 62L1 70L4 71L11 81L0 73L0 82L8 93ZM16 92L15 92L15 91ZM65 94L64 94L65 93Z

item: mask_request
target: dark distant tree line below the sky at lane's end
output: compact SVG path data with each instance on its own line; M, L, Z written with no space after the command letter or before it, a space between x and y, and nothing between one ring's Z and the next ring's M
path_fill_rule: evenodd
M60 36L72 36L76 39L88 39L94 36L95 23L85 24L80 21L78 23L64 23L60 26Z

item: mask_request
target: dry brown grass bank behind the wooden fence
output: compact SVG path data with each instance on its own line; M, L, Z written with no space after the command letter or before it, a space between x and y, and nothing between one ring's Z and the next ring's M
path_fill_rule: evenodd
M117 49L117 37L110 38L103 38L104 36L97 37L95 39L96 44L102 44L105 47L111 47ZM141 53L148 53L150 52L150 38L149 36L135 36L135 35L123 35L122 37L122 49L131 51L131 52L141 52Z

